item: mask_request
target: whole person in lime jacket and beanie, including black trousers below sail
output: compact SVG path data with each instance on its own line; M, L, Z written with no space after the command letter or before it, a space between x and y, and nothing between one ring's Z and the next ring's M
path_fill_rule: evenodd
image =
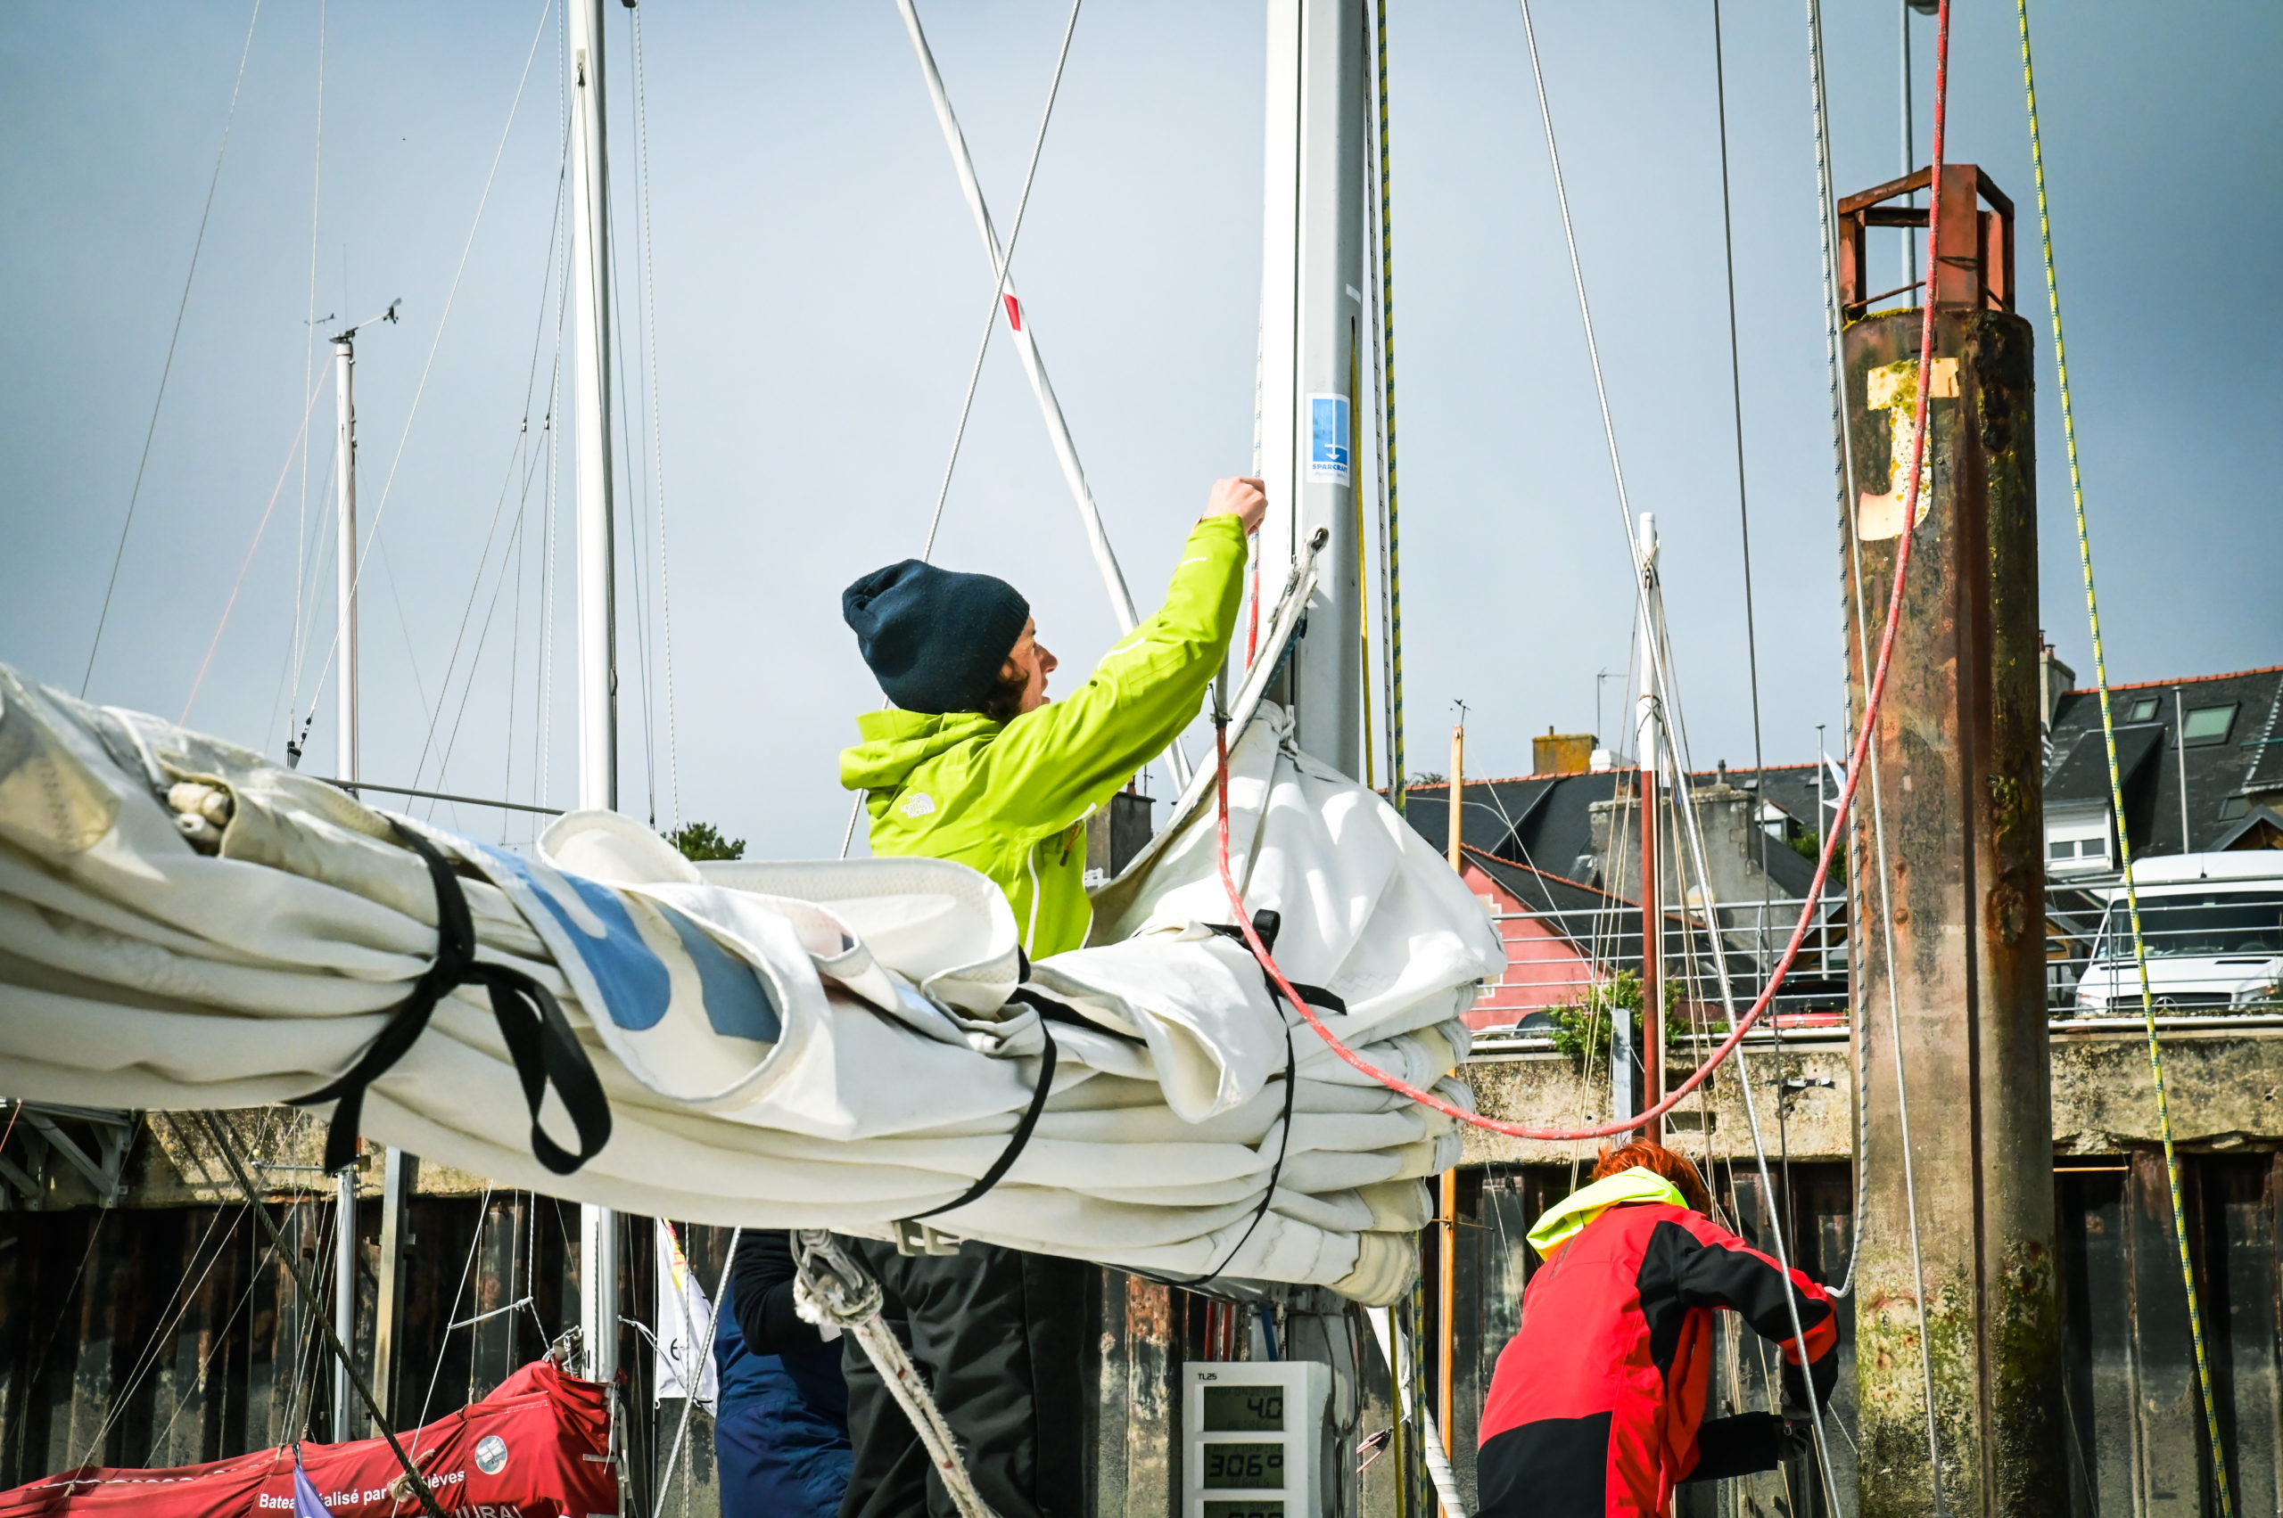
M1258 479L1221 479L1189 530L1164 607L1048 699L1059 662L1030 603L1005 580L918 559L840 596L865 664L895 703L858 717L840 783L865 792L872 854L957 858L989 874L1034 956L1087 940L1087 815L1196 719L1228 655L1244 539L1267 509ZM957 1233L957 1214L943 1221ZM1080 1383L1089 1267L966 1240L950 1255L900 1255L847 1240L881 1285L904 1340L1000 1518L1082 1518ZM954 1518L920 1438L872 1363L842 1354L854 1468L840 1518Z

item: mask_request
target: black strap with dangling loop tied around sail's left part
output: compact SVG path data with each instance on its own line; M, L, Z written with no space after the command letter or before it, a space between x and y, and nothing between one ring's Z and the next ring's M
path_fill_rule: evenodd
M523 970L509 966L486 966L475 959L475 918L468 911L468 895L459 888L452 865L429 840L388 819L397 840L418 854L429 867L436 886L436 963L413 982L406 995L388 1014L388 1025L365 1045L356 1064L322 1091L292 1098L295 1107L336 1103L333 1121L324 1135L324 1169L338 1171L356 1157L356 1132L365 1112L365 1089L386 1075L397 1059L420 1039L436 1002L459 986L484 986L491 993L491 1016L500 1020L500 1039L523 1077L523 1105L532 1112L532 1153L539 1164L557 1176L568 1176L610 1144L610 1100L603 1096L603 1080L594 1073L587 1050L571 1032L571 1018L546 986ZM578 1153L566 1150L539 1128L539 1105L548 1084L562 1098L571 1125L578 1130Z

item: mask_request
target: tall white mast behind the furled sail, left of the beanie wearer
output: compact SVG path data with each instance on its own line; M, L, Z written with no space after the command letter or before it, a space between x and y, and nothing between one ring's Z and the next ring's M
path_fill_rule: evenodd
M619 655L610 509L610 158L603 0L571 0L571 395L578 447L578 804L619 806ZM587 1374L619 1374L619 1214L580 1210Z

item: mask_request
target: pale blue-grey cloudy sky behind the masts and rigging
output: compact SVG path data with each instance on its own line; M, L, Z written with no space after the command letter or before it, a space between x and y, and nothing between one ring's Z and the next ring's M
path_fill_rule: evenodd
M0 27L0 660L66 689L89 660L249 9L16 7ZM623 799L639 815L655 794L669 822L678 797L680 815L756 851L829 854L847 808L836 751L877 705L838 589L918 550L989 267L888 0L651 0L644 278L628 14L607 9L626 415L639 434L621 502L642 536L639 562L623 550ZM1625 667L1625 552L1520 16L1489 0L1390 9L1411 762L1443 767L1463 699L1470 767L1518 774L1530 733L1591 728L1596 673ZM1845 194L1890 178L1902 155L1897 11L1826 9ZM922 14L1005 226L1066 11L975 0ZM2267 454L2283 404L2283 16L2155 16L2032 11L2114 680L2283 662ZM299 555L315 635L295 703L320 710L310 767L333 762L317 687L329 393L310 411L306 486L295 452L315 267L320 317L404 297L404 322L358 349L363 511L379 514L365 774L559 806L566 516L552 637L541 619L559 14L539 0L326 0L322 18L322 160L320 7L265 0L253 25L89 694L176 717L212 646L192 721L281 753ZM1731 5L1724 21L1760 705L1781 762L1813 753L1815 724L1838 746L1842 719L1806 37L1790 5ZM1536 23L1628 484L1664 534L1694 758L1746 765L1710 7L1541 0ZM1931 25L1915 34L1925 153ZM1256 5L1087 0L1023 233L1025 301L1144 600L1208 482L1249 461L1260 78ZM1959 5L1952 158L2032 205L2011 7ZM2027 221L2020 247L2043 365L2043 623L2089 678ZM557 486L566 511L568 463ZM1005 349L938 557L1023 587L1073 673L1112 637ZM438 819L500 833L495 813Z

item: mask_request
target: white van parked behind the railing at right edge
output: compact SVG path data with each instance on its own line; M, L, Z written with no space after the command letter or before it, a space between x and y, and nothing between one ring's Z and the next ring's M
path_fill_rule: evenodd
M2283 854L2167 854L2132 861L2148 993L2157 1011L2283 1011ZM2123 886L2078 982L2078 1016L2141 1009Z

